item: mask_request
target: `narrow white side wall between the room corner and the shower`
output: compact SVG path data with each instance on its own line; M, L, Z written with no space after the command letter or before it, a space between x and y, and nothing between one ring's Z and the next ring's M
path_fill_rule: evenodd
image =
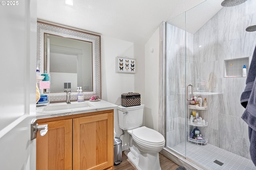
M154 49L153 53L151 50ZM145 45L145 125L158 131L159 27Z

